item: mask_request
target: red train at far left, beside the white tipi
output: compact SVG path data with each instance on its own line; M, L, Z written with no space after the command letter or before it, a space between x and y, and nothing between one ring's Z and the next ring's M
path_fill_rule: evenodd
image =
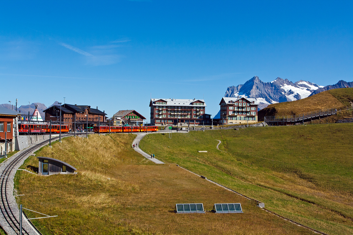
M52 133L59 133L60 124L52 124ZM50 132L49 124L19 123L20 135L44 134ZM61 124L61 132L68 132L68 125Z

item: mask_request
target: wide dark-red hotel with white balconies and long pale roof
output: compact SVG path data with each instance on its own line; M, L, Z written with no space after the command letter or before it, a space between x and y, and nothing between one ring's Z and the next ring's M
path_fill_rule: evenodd
M211 115L206 114L204 100L151 99L150 108L150 122L154 125L211 125Z

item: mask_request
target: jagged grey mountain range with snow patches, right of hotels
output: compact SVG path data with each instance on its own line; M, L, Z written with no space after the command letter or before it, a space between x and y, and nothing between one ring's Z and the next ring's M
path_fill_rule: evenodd
M334 88L353 87L353 82L339 81L335 85L319 86L308 81L291 82L288 79L276 78L271 82L263 82L258 76L240 84L227 88L225 97L247 96L256 98L259 102L259 109L267 107L269 104L293 101L306 98L312 94L327 91Z

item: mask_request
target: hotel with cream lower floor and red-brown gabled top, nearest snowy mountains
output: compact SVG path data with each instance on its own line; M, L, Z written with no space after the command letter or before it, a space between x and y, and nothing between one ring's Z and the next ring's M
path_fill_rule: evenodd
M257 122L256 99L244 97L223 97L219 104L221 106L219 123L240 124Z

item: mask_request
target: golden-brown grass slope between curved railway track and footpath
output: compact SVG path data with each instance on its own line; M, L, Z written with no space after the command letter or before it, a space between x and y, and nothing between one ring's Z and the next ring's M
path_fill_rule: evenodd
M174 164L151 163L131 148L135 137L69 137L43 147L36 156L65 161L78 174L18 171L16 190L24 194L18 203L58 215L34 221L43 234L313 234ZM22 167L36 171L38 160L30 157ZM244 213L173 213L176 203L203 203L211 210L219 202L241 203Z

